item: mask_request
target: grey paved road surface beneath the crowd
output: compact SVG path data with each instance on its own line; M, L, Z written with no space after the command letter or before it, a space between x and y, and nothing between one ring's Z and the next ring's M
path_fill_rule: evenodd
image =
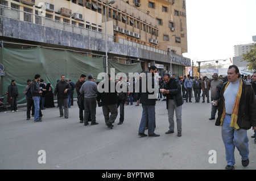
M19 112L0 112L0 169L222 170L226 161L221 128L208 119L210 108L209 103L184 103L181 137L177 137L176 123L174 134L164 134L168 119L163 101L156 103L155 133L160 137L138 136L141 105L125 106L124 123L117 125L118 116L112 130L105 126L98 107L99 124L87 127L79 123L77 104L69 108L69 119L59 117L57 108L43 110L42 123L27 121L24 107ZM250 137L253 133L247 132L250 164L242 167L236 150L237 170L256 169L256 144ZM209 163L213 155L210 150L216 151L216 163Z

